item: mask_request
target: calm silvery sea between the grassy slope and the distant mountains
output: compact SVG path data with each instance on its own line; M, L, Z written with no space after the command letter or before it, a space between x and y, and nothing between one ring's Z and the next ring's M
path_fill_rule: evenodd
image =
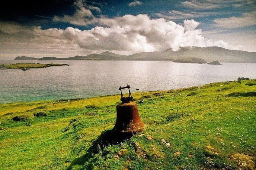
M168 61L37 61L0 60L5 63L66 63L41 69L0 70L0 103L56 100L117 94L120 86L131 91L168 90L211 82L256 79L256 63L208 64Z

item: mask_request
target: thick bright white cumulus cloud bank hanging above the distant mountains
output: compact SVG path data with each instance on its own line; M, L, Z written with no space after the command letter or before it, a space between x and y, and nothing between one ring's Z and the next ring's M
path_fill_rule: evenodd
M200 25L195 20L184 20L183 25L163 18L151 19L146 14L125 15L115 18L101 18L105 26L80 30L73 27L66 29L41 29L40 26L28 27L17 23L1 22L1 34L4 39L1 46L14 46L21 42L20 53L24 50L43 54L68 54L115 51L120 54L160 51L172 48L179 50L183 46L221 46L229 48L223 41L213 41L201 35ZM64 50L64 51L63 51ZM50 54L49 53L49 54Z

